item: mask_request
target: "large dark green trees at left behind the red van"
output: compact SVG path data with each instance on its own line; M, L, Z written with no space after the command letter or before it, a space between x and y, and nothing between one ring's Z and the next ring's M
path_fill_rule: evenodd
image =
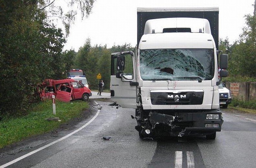
M0 119L24 114L43 79L66 77L63 72L70 65L61 53L66 40L48 15L54 1L0 0ZM79 3L79 10L88 15L94 1L69 2Z

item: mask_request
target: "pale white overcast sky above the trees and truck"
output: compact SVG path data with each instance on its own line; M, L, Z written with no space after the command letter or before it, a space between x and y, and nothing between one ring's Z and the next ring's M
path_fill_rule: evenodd
M59 0L62 1L62 0ZM137 43L137 7L219 7L219 38L239 39L245 14L253 14L254 0L96 0L92 13L71 25L64 50L78 51L87 38L91 45Z

